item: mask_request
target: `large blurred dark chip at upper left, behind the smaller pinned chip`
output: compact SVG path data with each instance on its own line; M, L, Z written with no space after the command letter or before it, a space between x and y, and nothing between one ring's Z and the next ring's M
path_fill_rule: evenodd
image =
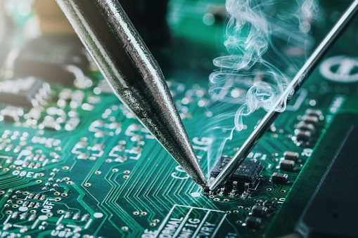
M76 36L46 35L21 49L14 62L14 72L20 77L32 75L50 83L72 85L75 75L66 70L65 65L87 69L89 60L81 42Z

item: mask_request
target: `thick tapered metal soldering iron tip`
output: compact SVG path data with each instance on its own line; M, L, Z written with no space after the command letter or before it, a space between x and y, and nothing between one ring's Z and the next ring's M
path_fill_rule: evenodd
M207 181L158 63L117 0L56 0L118 98L202 188Z

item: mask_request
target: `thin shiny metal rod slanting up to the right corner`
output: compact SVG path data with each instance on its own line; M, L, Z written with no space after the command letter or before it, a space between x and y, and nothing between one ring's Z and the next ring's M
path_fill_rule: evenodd
M301 69L295 75L286 90L282 93L280 98L273 105L272 109L267 112L267 114L261 120L260 124L258 124L254 131L252 131L248 139L245 140L245 143L243 143L238 152L236 152L234 157L231 158L229 163L226 164L226 166L222 169L217 178L212 181L209 187L210 190L217 190L217 188L221 187L224 183L226 183L226 180L228 180L230 176L236 171L238 166L240 166L240 164L245 160L245 158L248 156L253 147L255 147L260 138L262 138L262 135L264 135L264 132L267 131L267 128L269 128L269 126L271 126L274 120L279 116L280 112L276 112L275 108L279 107L279 105L283 105L283 103L288 102L291 98L293 98L295 92L300 89L307 77L309 77L309 75L312 73L319 61L323 58L324 54L328 51L328 49L331 48L335 39L339 37L339 34L347 26L350 20L352 20L357 11L358 0L355 0L352 2L350 7L347 8L347 11L345 11L340 20L335 23L334 27L327 34L324 40L321 41L319 46L314 50L314 52L308 58L305 64L301 67Z

